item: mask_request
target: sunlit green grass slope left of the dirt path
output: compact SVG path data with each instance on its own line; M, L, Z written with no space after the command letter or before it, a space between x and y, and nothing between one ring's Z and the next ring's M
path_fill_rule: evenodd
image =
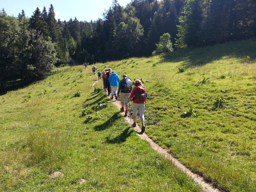
M92 90L95 79L64 67L1 95L0 191L202 191ZM64 176L50 179L56 171Z

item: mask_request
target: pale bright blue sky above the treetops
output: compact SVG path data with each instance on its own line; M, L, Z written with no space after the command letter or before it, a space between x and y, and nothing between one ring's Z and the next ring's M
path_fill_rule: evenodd
M131 0L118 0L118 3L125 7ZM108 9L112 0L0 0L0 10L4 8L8 15L15 17L23 9L26 16L30 17L35 9L39 7L42 11L44 6L48 9L53 5L56 19L68 21L75 16L79 21L97 20L102 18L104 9Z

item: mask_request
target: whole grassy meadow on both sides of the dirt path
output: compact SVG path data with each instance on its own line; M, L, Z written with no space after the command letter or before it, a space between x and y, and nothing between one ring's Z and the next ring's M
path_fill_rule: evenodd
M189 169L225 191L256 191L256 39L96 67L143 79L147 135ZM92 90L96 76L57 68L1 95L0 191L202 191Z

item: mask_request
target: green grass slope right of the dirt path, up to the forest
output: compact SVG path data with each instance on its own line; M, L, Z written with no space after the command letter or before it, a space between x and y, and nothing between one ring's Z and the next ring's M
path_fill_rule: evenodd
M256 191L256 39L132 58L112 67L142 78L146 133L193 172L232 192ZM133 66L135 63L135 66ZM178 73L178 66L185 71ZM200 83L210 77L207 83ZM99 85L100 86L100 85ZM216 107L213 97L225 99ZM198 117L181 118L193 103Z

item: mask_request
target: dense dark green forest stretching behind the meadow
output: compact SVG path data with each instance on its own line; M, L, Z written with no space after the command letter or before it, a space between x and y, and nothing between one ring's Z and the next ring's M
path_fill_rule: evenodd
M256 0L113 0L103 19L56 20L54 8L17 17L0 12L0 90L29 83L71 59L96 63L150 56L170 34L173 49L196 48L256 36Z

